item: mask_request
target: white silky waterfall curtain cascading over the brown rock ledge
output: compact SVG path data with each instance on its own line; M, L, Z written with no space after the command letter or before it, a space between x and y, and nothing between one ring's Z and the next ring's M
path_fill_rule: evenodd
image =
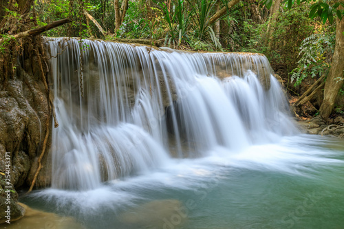
M87 190L171 157L238 153L296 132L266 56L49 39L52 187Z

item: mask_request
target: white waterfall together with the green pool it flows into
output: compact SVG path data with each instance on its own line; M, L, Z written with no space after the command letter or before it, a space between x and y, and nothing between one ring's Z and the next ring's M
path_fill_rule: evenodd
M343 228L344 144L303 135L265 56L47 41L52 187L85 228Z

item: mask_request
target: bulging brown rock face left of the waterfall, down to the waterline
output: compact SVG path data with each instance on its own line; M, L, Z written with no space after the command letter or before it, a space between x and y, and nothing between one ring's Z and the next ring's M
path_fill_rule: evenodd
M23 67L28 70L25 71ZM36 66L27 61L23 67L19 66L6 88L3 85L0 87L0 220L6 219L4 210L8 207L8 190L11 221L23 215L23 208L16 204L18 195L14 188L32 184L45 138L47 118L50 116L47 93L43 80L36 73ZM48 126L51 128L50 122ZM36 188L50 183L48 157L48 154L43 157L43 168L36 179Z

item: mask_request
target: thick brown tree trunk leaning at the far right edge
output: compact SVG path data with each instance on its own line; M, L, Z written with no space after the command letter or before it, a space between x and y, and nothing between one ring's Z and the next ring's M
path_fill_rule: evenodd
M325 120L330 116L338 91L344 83L344 19L336 19L336 23L336 45L325 83L324 100L319 110L320 116Z

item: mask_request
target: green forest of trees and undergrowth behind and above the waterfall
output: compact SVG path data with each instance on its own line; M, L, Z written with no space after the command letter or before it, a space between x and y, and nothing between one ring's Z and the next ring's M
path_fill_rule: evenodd
M3 21L17 20L12 34L22 32L16 1L12 9L1 2ZM343 6L341 1L300 0L36 0L30 19L32 28L71 21L44 36L265 54L296 116L320 114L327 120L344 115ZM11 31L2 25L2 40L10 40Z

